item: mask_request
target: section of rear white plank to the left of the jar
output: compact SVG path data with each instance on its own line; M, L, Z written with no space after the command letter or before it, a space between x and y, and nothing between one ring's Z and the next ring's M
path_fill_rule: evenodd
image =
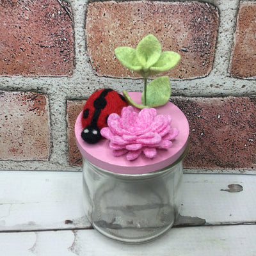
M0 172L0 230L76 227L91 227L81 172Z

